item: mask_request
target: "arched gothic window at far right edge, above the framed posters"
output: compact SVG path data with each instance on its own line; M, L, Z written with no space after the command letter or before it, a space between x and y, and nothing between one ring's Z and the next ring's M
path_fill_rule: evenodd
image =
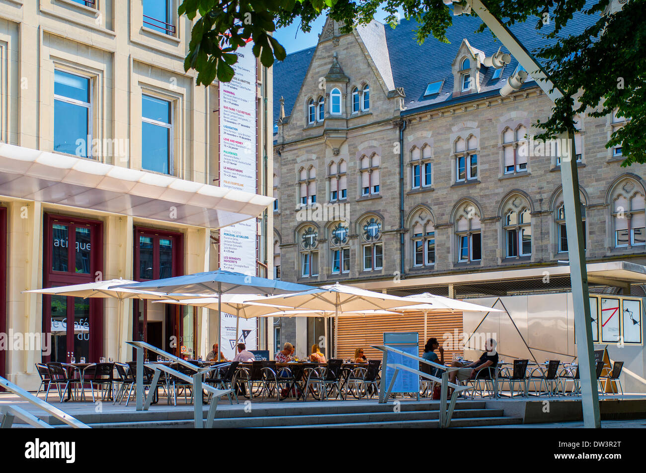
M628 184L630 183L630 184ZM623 187L634 185L631 181L622 183ZM612 220L614 222L614 246L627 247L645 244L644 194L637 191L626 193L617 186L620 192L614 195Z

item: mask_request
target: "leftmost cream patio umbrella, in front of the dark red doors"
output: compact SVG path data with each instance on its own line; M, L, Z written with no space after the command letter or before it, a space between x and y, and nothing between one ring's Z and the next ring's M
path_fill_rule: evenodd
M123 284L134 284L136 281L127 279L109 279L105 281L88 282L85 284L72 284L70 286L58 286L56 288L32 289L23 293L36 293L48 295L61 295L65 297L101 297L103 299L113 298L119 301L118 307L118 334L121 334L123 324L123 312L126 299L161 300L161 299L189 299L196 297L196 294L166 294L154 291L143 291L139 289L121 288ZM75 329L76 330L76 327ZM121 344L118 348L118 359L121 359Z

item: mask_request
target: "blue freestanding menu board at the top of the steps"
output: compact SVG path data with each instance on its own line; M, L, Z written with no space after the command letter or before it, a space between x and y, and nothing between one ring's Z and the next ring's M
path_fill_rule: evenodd
M419 357L418 343L419 333L416 331L384 333L384 345L397 348L397 350L401 350L402 352L409 353L416 357ZM399 355L399 353L388 352L388 360L386 361L386 364L394 363L409 366L410 368L413 368L413 370L419 370L419 361L416 359ZM388 366L382 366L382 372L384 370L386 375L384 375L382 383L384 383L384 388L388 389L395 370ZM391 392L419 392L419 375L406 370L399 370Z

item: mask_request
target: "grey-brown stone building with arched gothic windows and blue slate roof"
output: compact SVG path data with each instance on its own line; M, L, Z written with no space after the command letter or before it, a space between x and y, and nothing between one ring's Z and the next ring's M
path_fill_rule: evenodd
M575 17L572 31L589 21ZM275 64L277 276L469 297L512 292L468 284L474 274L519 270L534 272L517 293L568 288L556 277L537 288L541 268L568 259L559 143L533 139L551 102L531 75L501 96L521 67L513 57L486 67L501 45L478 25L454 17L450 43L419 45L414 21L341 34L328 19L316 47ZM511 29L530 50L540 45L533 26ZM621 167L621 147L605 147L624 123L578 117L589 263L646 262L645 168ZM430 284L442 277L456 282ZM599 279L615 290L606 286ZM297 341L298 355L322 331L322 322L274 323L275 341Z

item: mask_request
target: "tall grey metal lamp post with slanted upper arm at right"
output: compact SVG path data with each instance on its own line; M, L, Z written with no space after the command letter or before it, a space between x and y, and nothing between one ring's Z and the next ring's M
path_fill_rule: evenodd
M444 0L447 5L452 0ZM518 41L516 36L495 17L482 0L466 0L486 26L500 39L519 64L541 87L543 92L556 101L563 97L563 91L554 84L532 54ZM454 3L454 5L459 5ZM454 10L455 12L456 10ZM468 12L458 6L458 14ZM592 326L590 325L590 299L588 292L588 275L585 267L585 250L583 242L583 225L581 224L581 201L579 178L574 154L574 135L568 131L558 136L561 152L561 183L563 184L563 204L567 227L568 257L570 259L570 284L572 285L572 302L574 304L574 324L576 326L576 346L579 359L579 377L581 381L581 400L583 402L583 423L587 428L599 428L599 394L596 387L596 366L594 363L594 346L592 344Z

